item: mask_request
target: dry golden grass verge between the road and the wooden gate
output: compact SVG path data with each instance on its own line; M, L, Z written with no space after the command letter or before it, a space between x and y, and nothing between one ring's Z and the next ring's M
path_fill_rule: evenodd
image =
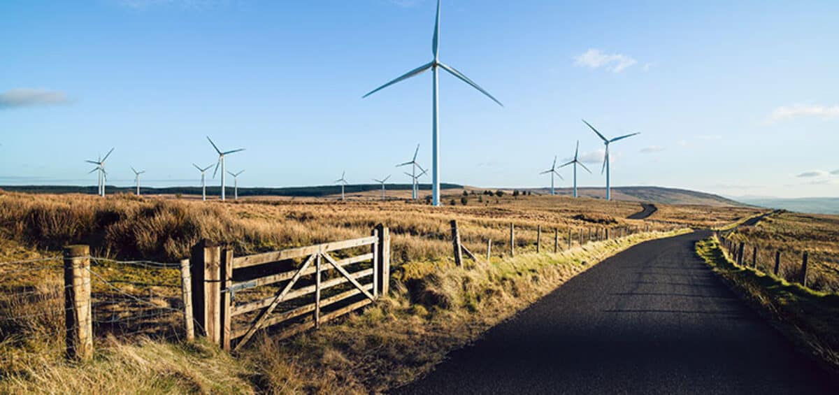
M671 234L493 258L467 268L409 262L393 273L392 294L362 313L289 340L260 335L235 358L202 344L114 340L82 366L63 362L60 352L29 355L0 372L0 392L382 392L429 372L449 351L604 258Z

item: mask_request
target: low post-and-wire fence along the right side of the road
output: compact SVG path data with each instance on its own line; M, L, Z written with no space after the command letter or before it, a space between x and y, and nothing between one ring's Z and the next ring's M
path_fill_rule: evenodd
M769 247L733 236L732 231L717 231L715 236L737 265L772 273L790 283L826 292L839 291L839 257L808 250Z

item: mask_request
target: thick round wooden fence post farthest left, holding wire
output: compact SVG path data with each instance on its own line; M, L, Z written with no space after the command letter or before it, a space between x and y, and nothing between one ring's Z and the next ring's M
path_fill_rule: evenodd
M65 346L67 357L90 361L93 357L91 311L91 247L64 247Z

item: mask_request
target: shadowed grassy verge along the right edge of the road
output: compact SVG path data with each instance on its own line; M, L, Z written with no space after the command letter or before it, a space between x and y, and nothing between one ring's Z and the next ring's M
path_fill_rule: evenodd
M839 294L816 292L769 273L737 266L716 239L697 243L696 252L796 345L839 372Z

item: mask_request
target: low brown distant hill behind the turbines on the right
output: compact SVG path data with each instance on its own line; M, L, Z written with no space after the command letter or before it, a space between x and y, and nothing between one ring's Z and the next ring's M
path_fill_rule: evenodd
M533 190L534 193L542 195L550 193L547 188ZM598 199L606 198L606 190L603 188L580 188L581 196ZM559 195L573 195L571 188L557 188ZM720 195L697 192L696 190L680 190L677 188L663 188L659 186L619 186L612 188L612 199L623 201L638 201L650 203L663 203L668 205L711 205L716 207L743 206L742 202L724 198Z

